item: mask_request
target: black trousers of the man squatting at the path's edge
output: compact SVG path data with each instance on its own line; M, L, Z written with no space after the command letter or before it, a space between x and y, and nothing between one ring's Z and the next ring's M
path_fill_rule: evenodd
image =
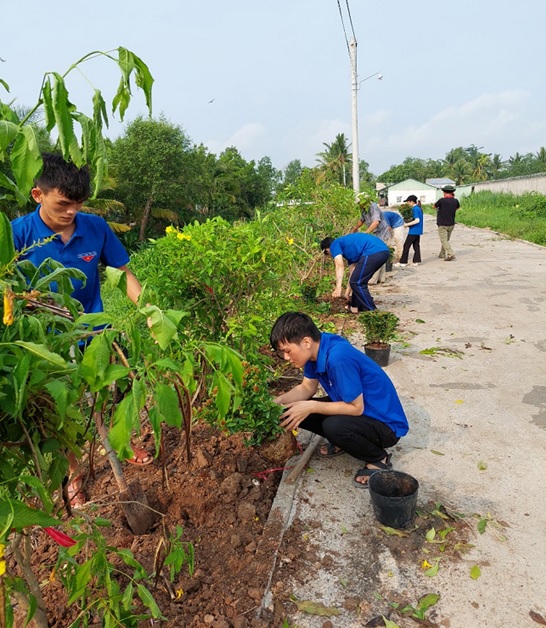
M329 402L328 397L315 401ZM391 428L382 421L366 416L349 416L346 414L310 414L299 427L327 438L332 445L339 447L348 454L364 460L364 462L379 462L387 452L386 447L392 447L400 440Z

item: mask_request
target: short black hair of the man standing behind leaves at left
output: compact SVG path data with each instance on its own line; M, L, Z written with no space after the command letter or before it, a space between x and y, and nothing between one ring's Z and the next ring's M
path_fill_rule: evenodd
M43 153L44 165L42 172L35 179L34 185L43 192L58 190L71 201L85 201L91 196L89 168L78 168L75 164L65 161L62 155Z

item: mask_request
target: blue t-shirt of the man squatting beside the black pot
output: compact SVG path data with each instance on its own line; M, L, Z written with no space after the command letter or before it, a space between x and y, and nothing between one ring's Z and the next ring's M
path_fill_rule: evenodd
M322 333L317 361L307 362L303 372L332 401L351 403L363 395L366 416L386 423L398 438L407 434L408 420L389 376L345 338Z

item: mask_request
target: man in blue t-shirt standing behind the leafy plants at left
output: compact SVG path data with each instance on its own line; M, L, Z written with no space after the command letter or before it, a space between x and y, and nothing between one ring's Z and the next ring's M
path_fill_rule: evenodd
M45 153L40 176L31 190L38 203L36 210L12 222L13 240L17 251L24 251L19 259L28 259L39 266L47 258L67 268L83 271L87 280L72 280L74 292L83 311L102 312L100 296L99 262L123 270L127 277L127 296L137 303L142 288L138 279L127 268L129 256L108 223L99 216L80 214L84 201L91 194L87 167L78 168L66 162L61 155ZM46 239L42 246L33 246ZM26 250L30 248L29 250ZM55 290L55 286L51 286ZM153 462L148 452L133 447L134 457L128 462L147 465ZM83 480L74 454L68 454L71 481L68 497L71 505L85 503Z

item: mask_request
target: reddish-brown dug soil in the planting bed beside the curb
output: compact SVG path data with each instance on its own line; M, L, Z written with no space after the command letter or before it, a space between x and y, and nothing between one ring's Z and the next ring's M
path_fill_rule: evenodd
M188 464L180 432L168 429L164 432L165 471L157 460L143 468L124 465L128 482L138 477L149 505L163 513L157 525L141 536L130 531L116 503L117 486L107 459L95 457L95 477L85 486L89 502L83 512L111 521L111 527L103 528L109 545L130 549L149 574L156 571L165 531L182 526L182 541L194 546L192 576L183 567L170 583L168 568L163 567L156 588L151 587L167 618L162 625L268 625L256 619L256 612L270 577L278 535L270 526L272 538L265 538L264 526L281 477L278 469L295 453L296 445L291 435L260 448L248 447L244 438L197 426L192 435L193 459ZM34 567L44 583L50 626L66 628L78 613L74 606L66 606L66 594L51 576L58 546L41 531L35 533L34 541Z

